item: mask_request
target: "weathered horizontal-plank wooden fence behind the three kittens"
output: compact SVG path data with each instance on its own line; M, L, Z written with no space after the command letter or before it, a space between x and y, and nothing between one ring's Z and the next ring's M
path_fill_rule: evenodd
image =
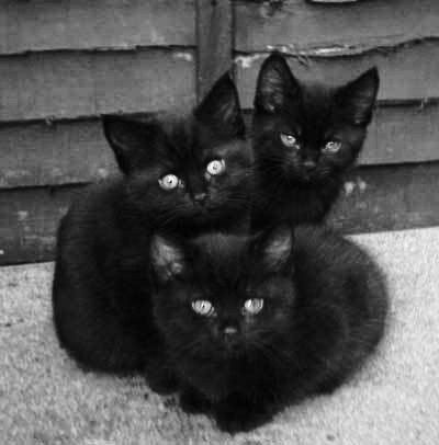
M192 106L234 64L249 116L272 48L300 78L379 66L380 107L333 224L437 225L437 0L0 0L0 264L53 259L71 197L115 171L101 114Z

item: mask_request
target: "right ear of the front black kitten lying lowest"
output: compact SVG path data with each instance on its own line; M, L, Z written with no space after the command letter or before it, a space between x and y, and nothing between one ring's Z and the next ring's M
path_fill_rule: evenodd
M262 258L268 271L281 272L291 264L293 239L294 233L290 227L275 227L257 236L254 254Z

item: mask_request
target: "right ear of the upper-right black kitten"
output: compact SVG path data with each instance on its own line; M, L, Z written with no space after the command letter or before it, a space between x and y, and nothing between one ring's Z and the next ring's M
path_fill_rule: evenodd
M339 88L336 101L345 118L354 125L369 125L379 87L380 77L374 67L347 85Z

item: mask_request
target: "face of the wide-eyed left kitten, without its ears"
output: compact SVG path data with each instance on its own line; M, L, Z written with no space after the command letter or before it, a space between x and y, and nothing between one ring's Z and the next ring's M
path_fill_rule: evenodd
M200 225L246 207L251 157L244 140L221 140L188 119L168 123L153 158L128 178L130 196L162 226Z

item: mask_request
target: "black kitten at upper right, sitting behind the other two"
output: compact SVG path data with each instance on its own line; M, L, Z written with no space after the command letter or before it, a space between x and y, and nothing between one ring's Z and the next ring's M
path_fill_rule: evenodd
M254 114L255 228L325 218L362 148L378 89L376 68L331 88L300 82L279 53L264 60Z

